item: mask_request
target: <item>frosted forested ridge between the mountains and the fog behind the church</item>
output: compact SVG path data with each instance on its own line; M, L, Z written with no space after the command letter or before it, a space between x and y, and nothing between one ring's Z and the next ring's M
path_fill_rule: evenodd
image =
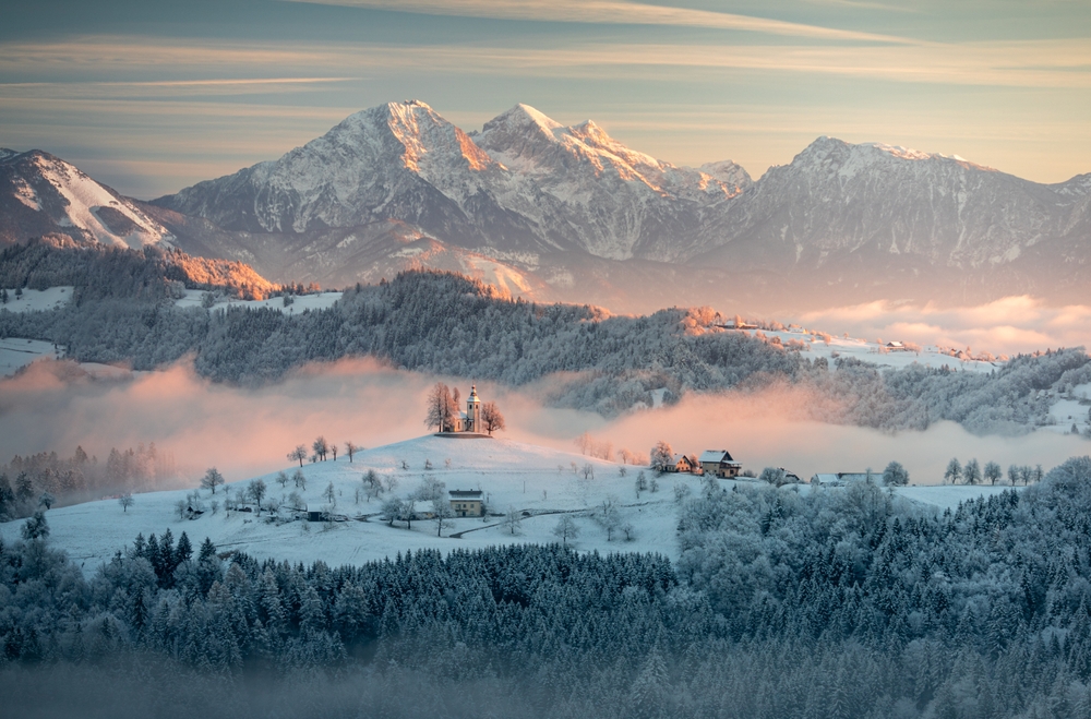
M59 276L27 269L8 252L0 255L0 278ZM851 358L831 366L808 359L802 344L717 329L708 309L610 316L587 305L503 299L449 273L357 286L329 309L295 315L242 305L180 309L168 291L169 283L181 284L169 279L176 265L159 263L143 253L100 255L92 263L96 272L121 267L106 273L122 278L113 290L100 289L111 281L100 272L64 275L75 277L79 302L37 313L0 310L0 337L45 339L77 361L124 361L139 370L193 355L202 375L242 384L274 382L308 362L374 356L412 371L535 384L550 405L604 416L651 406L659 390L671 403L686 393L786 385L803 391L801 411L816 419L890 430L947 419L975 432L1026 432L1047 421L1045 391L1091 381L1082 348L1017 357L991 374L921 366L880 371Z

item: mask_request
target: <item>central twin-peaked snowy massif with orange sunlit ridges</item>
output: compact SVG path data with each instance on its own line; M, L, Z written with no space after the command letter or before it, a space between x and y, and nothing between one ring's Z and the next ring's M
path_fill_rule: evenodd
M672 261L671 238L693 235L700 208L748 184L738 165L678 168L591 122L564 128L524 105L471 137L410 100L153 204L228 230L303 235L394 219L497 257L576 250Z

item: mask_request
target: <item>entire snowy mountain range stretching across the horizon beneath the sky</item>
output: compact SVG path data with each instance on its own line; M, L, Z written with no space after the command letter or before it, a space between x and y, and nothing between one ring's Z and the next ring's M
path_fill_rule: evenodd
M1091 175L1040 184L958 156L819 137L754 181L730 160L676 167L525 105L466 133L423 103L389 103L151 203L103 188L109 199L82 200L86 212L71 197L87 192L64 188L89 179L53 169L60 199L46 201L43 164L64 166L0 155L5 242L70 230L168 242L323 286L428 266L616 309L786 309L1070 301L1089 272ZM27 187L45 190L27 200Z

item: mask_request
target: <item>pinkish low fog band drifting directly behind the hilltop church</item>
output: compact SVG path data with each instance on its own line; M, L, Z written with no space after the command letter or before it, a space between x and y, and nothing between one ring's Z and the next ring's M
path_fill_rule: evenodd
M383 367L373 360L312 366L261 390L214 384L188 366L123 381L62 379L63 366L38 363L0 381L0 463L15 454L76 445L104 462L110 447L155 442L170 452L182 484L196 484L216 466L229 481L273 471L289 463L297 444L323 435L364 447L428 431L424 397L437 380L465 398L469 379L435 378ZM729 450L747 469L786 467L807 478L818 471L876 471L902 463L914 483L939 483L947 462L978 458L1048 469L1089 453L1087 440L1052 432L1019 438L974 436L943 422L926 432L885 434L806 419L808 397L794 390L751 395L691 395L673 407L639 410L615 420L543 407L531 393L479 383L507 419L500 436L578 452L574 439L590 432L613 448L647 455L658 440L676 452ZM177 483L175 483L177 486Z

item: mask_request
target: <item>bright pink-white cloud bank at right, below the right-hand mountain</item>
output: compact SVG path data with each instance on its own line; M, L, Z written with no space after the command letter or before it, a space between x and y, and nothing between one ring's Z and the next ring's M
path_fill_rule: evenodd
M799 321L832 334L971 347L994 355L1091 346L1091 307L1050 307L1029 296L952 308L884 300L807 312Z

